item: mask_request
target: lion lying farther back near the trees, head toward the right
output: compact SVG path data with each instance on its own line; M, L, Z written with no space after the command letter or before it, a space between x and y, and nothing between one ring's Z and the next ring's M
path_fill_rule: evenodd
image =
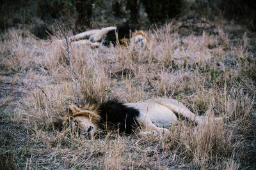
M145 32L141 30L131 32L131 27L127 25L81 32L72 36L70 41L72 41L72 44L88 45L91 47L109 46L112 43L114 46L117 44L131 44L133 47L146 48L149 43Z

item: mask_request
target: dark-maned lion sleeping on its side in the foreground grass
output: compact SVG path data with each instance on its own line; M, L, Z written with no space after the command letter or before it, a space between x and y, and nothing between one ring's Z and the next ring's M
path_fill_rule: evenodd
M196 116L186 106L175 99L149 99L136 103L120 103L116 100L99 105L87 104L83 108L70 107L70 117L78 127L79 136L91 139L97 129L119 129L120 132L131 134L140 127L138 136L151 134L168 134L167 127L179 120L188 118L196 124L202 124L205 117ZM220 118L216 118L220 119Z

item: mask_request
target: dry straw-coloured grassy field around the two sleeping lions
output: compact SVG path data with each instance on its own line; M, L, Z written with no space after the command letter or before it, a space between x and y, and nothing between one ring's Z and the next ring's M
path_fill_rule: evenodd
M255 34L221 18L212 31L182 24L145 30L146 50L71 45L70 54L55 41L60 31L47 40L26 29L2 32L0 169L256 168ZM223 120L180 120L164 138L99 131L88 140L53 126L71 104L154 97Z

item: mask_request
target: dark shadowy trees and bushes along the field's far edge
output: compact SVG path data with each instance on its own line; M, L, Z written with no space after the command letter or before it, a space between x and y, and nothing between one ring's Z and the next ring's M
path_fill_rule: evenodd
M52 24L56 20L68 20L71 27L84 31L98 26L92 25L92 19L100 15L106 20L112 18L114 25L129 24L140 29L141 24L144 27L150 26L147 20L151 24L164 24L173 18L188 15L193 10L197 14L188 17L200 14L211 18L224 14L228 19L256 31L255 8L256 3L253 0L196 0L195 3L187 3L184 0L1 0L0 29L4 31L10 27L24 27L24 24L30 24L31 32L38 38L45 39L49 36L47 32L52 33ZM93 22L97 21L93 19Z

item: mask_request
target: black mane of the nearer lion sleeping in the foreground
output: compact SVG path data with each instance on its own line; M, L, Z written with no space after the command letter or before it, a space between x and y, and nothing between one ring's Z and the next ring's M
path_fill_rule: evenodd
M120 132L131 134L134 127L140 127L136 118L139 114L140 111L116 100L107 101L99 106L99 115L102 117L100 128L119 129Z

